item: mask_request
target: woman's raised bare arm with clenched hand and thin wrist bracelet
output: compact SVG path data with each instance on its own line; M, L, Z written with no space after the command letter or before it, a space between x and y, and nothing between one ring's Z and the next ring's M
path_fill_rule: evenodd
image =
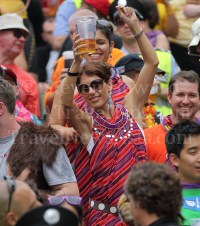
M117 6L120 18L128 24L133 35L136 36L138 46L144 59L138 81L133 89L127 94L123 104L142 126L142 107L147 99L153 84L156 68L159 64L158 57L151 43L139 26L138 19L132 8Z

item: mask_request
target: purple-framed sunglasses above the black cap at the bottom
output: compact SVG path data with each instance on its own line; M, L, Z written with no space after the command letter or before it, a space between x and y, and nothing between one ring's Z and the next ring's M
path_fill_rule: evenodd
M48 198L48 202L51 205L60 205L66 200L71 205L80 205L82 198L78 196L53 196Z

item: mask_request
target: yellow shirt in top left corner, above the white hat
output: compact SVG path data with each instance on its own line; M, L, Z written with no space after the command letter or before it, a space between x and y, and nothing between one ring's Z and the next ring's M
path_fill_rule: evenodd
M25 4L22 0L0 0L0 15L10 13L17 13L24 9ZM19 14L23 19L28 18L27 11L25 10L23 13Z

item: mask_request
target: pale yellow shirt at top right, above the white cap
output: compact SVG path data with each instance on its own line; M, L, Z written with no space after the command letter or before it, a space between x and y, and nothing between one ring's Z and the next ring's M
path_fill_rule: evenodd
M198 17L192 17L187 19L183 14L183 8L187 4L186 0L171 0L170 5L174 9L174 14L179 24L179 32L176 39L169 37L169 41L183 47L188 47L192 40L192 24L198 19Z

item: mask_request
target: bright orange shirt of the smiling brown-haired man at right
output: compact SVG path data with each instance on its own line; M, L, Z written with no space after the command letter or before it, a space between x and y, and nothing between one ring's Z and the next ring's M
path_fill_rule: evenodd
M154 162L166 162L166 131L163 129L162 124L145 129L144 134L146 138L148 160Z

